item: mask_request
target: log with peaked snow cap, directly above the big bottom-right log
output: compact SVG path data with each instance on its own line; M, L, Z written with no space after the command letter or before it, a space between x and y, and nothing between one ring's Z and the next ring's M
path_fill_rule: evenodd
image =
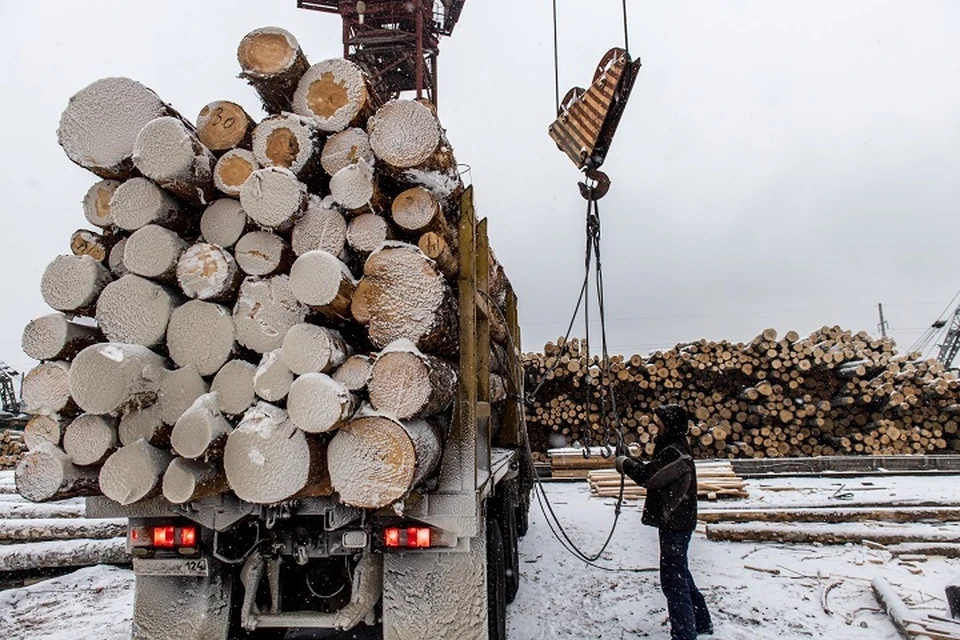
M456 368L397 340L380 353L367 383L370 404L400 420L425 418L450 406L457 391Z

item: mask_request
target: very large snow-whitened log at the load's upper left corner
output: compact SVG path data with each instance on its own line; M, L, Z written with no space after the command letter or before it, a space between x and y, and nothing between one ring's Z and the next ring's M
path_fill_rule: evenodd
M129 78L103 78L70 98L57 139L67 157L101 178L123 180L134 169L140 130L173 110L153 91Z

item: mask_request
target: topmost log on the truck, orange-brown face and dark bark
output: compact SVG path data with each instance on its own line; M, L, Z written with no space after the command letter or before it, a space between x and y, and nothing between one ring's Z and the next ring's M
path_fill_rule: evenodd
M310 68L293 35L278 27L255 29L237 47L240 77L256 89L268 113L291 111L300 78Z

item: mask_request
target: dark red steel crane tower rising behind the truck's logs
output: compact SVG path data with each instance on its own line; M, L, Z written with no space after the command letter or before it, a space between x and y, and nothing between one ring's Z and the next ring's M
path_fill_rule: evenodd
M440 38L453 33L466 0L297 0L297 7L339 13L343 56L371 76L381 101L416 91L437 104Z

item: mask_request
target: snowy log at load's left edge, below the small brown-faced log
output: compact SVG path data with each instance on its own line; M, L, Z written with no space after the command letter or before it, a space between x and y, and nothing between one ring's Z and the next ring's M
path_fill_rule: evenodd
M43 272L40 294L57 311L87 316L111 280L110 271L90 256L57 256Z

